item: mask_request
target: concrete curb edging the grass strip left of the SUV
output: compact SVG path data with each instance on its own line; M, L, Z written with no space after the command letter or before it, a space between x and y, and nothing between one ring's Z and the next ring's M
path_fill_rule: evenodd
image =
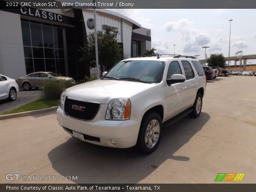
M8 114L8 115L0 115L0 120L25 117L25 116L31 116L31 115L38 115L38 114L44 114L44 113L48 113L48 112L56 112L58 107L59 106L45 108L45 109L38 109L38 110L33 110L33 111L20 112L20 113L13 113L13 114Z

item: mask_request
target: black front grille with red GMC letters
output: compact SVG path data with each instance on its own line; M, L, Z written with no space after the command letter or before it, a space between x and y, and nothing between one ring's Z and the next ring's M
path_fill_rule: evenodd
M83 111L73 109L72 105L82 106ZM70 117L89 121L96 116L99 108L100 108L100 104L98 103L84 102L84 101L78 101L78 100L66 98L64 111L65 111L65 114Z

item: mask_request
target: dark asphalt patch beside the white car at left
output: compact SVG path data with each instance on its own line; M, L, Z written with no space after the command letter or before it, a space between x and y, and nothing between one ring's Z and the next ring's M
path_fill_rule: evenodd
M29 91L20 89L15 101L10 102L7 99L0 100L0 114L9 110L15 109L26 103L37 100L38 98L40 98L40 96L42 96L42 92L40 89L32 89Z

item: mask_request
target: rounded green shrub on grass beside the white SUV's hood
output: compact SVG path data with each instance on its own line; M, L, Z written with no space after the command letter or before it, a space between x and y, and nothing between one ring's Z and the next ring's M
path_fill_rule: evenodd
M43 93L47 99L59 99L63 90L74 84L67 80L50 80L43 85Z

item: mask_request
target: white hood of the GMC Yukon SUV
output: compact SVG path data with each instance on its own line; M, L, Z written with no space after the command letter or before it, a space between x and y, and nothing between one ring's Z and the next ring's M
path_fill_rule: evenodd
M156 85L132 81L94 80L68 88L66 96L108 104L114 98L130 98L130 96Z

